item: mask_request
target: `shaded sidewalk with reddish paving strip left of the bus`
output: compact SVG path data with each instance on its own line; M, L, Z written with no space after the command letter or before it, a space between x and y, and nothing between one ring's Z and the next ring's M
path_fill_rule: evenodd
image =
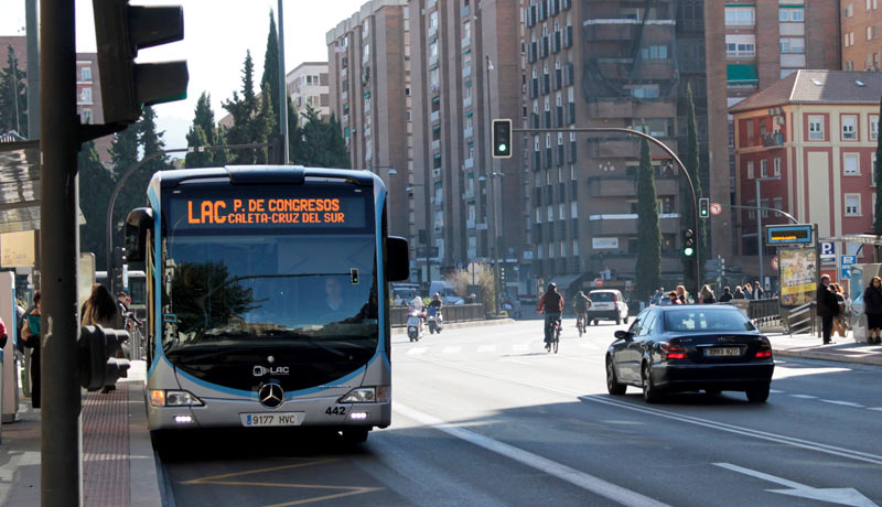
M162 505L147 431L144 363L132 362L115 391L83 395L83 505ZM40 414L21 398L19 420L3 424L0 505L40 505Z

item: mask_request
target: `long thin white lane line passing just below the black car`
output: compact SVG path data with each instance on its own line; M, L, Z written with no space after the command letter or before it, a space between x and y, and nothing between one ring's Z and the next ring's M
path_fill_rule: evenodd
M420 359L424 360L424 362L428 362L428 363L434 363L437 365L444 366L444 367L448 367L448 368L451 368L451 369L459 369L461 371L469 371L469 373L472 373L472 374L475 374L475 375L480 375L482 377L495 378L495 379L503 380L503 381L506 381L506 382L520 384L520 385L524 385L524 386L530 386L530 387L536 387L536 388L539 388L539 389L546 389L546 390L549 390L549 391L559 392L559 393L562 393L562 395L573 396L573 397L576 397L576 398L578 398L580 400L583 400L583 401L592 401L592 402L595 402L595 403L601 403L601 404L606 404L606 406L611 406L611 407L622 408L622 409L632 410L632 411L635 411L635 412L643 412L643 413L647 413L647 414L650 414L650 416L657 416L657 417L665 418L665 419L671 419L671 420L675 420L675 421L678 421L678 422L685 422L685 423L688 423L688 424L695 424L695 425L699 425L699 427L703 427L703 428L709 428L709 429L716 430L716 431L724 431L724 432L728 432L728 433L735 433L735 434L740 434L740 435L744 435L744 436L750 436L750 438L753 438L753 439L766 440L766 441L771 441L771 442L777 442L777 443L782 443L782 444L785 444L785 445L790 445L793 447L806 449L806 450L809 450L809 451L820 452L820 453L824 453L824 454L830 454L830 455L846 457L846 459L860 461L860 462L864 462L864 463L873 463L873 464L876 464L876 465L882 465L882 455L879 455L879 454L871 454L871 453L865 453L865 452L861 452L861 451L854 451L854 450L851 450L851 449L838 447L836 445L828 445L828 444L825 444L825 443L814 442L814 441L810 441L810 440L797 439L795 436L786 436L786 435L782 435L782 434L777 434L777 433L770 433L770 432L765 432L765 431L752 430L752 429L749 429L749 428L736 427L736 425L733 425L733 424L727 424L724 422L714 421L714 420L711 420L711 419L696 418L696 417L692 417L692 416L679 414L679 413L669 412L669 411L666 411L666 410L659 410L659 409L654 409L654 408L650 408L650 407L633 404L633 403L630 403L630 402L619 401L619 400L612 399L611 397L609 397L606 395L602 395L602 396L601 395L583 396L582 392L580 392L580 391L578 391L576 389L568 389L568 388L553 386L553 385L549 385L549 384L545 384L545 382L527 380L527 379L524 379L524 378L513 377L513 376L509 376L509 375L484 371L484 370L481 370L481 369L477 369L477 368L473 368L473 367L470 367L470 366L458 365L458 364L448 363L448 362L435 359L435 358L430 358L428 356L421 356Z

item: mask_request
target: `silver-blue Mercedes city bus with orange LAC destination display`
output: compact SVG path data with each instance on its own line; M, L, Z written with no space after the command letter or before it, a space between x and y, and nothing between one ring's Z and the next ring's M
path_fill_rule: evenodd
M147 408L155 447L184 429L324 427L361 443L391 419L387 235L367 171L162 171L126 219L147 277Z

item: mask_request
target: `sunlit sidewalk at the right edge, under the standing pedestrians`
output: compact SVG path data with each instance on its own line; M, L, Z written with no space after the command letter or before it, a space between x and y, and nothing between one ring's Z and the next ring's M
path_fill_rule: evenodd
M832 360L857 365L882 366L882 345L854 343L851 333L846 338L835 337L836 343L824 345L821 338L810 334L767 333L775 357Z

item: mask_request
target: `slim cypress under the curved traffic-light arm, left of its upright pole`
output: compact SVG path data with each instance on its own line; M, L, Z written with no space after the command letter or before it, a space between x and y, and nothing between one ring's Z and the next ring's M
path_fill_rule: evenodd
M662 234L658 224L658 204L655 193L655 175L649 158L649 141L641 142L641 165L637 175L637 265L634 278L637 298L646 300L660 284Z

